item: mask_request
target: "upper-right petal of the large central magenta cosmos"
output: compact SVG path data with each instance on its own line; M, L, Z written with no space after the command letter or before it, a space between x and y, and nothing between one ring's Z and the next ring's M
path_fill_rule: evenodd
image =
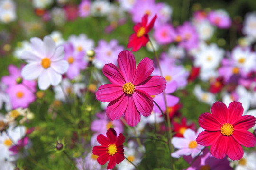
M138 85L142 83L151 75L153 70L154 70L153 61L147 57L142 59L135 71L135 76L133 78L132 83L134 85Z

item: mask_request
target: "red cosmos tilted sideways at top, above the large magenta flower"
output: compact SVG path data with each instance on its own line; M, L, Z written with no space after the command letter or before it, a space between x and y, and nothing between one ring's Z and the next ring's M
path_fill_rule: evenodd
M135 33L131 34L129 37L127 48L132 48L132 51L138 51L141 46L146 46L146 43L149 41L149 36L147 33L153 28L156 17L157 16L155 15L148 25L148 15L146 14L142 17L141 23L137 23L133 27Z

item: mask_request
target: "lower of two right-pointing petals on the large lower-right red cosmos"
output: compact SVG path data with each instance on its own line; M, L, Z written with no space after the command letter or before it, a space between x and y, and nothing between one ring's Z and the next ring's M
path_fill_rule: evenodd
M232 137L245 147L254 147L256 144L256 137L247 130L234 130Z

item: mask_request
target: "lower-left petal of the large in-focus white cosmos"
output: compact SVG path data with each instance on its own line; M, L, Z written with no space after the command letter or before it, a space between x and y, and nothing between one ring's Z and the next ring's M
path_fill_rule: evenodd
M29 63L21 70L21 76L26 80L34 80L42 73L41 63Z

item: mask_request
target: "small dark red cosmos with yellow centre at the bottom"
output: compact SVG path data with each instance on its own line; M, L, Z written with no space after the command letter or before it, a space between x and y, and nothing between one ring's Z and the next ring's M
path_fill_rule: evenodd
M116 163L119 164L124 160L124 140L123 134L120 133L117 137L116 131L113 128L109 128L107 137L102 134L98 135L97 141L102 146L94 146L92 153L99 156L97 161L101 165L110 160L107 169L112 169Z

